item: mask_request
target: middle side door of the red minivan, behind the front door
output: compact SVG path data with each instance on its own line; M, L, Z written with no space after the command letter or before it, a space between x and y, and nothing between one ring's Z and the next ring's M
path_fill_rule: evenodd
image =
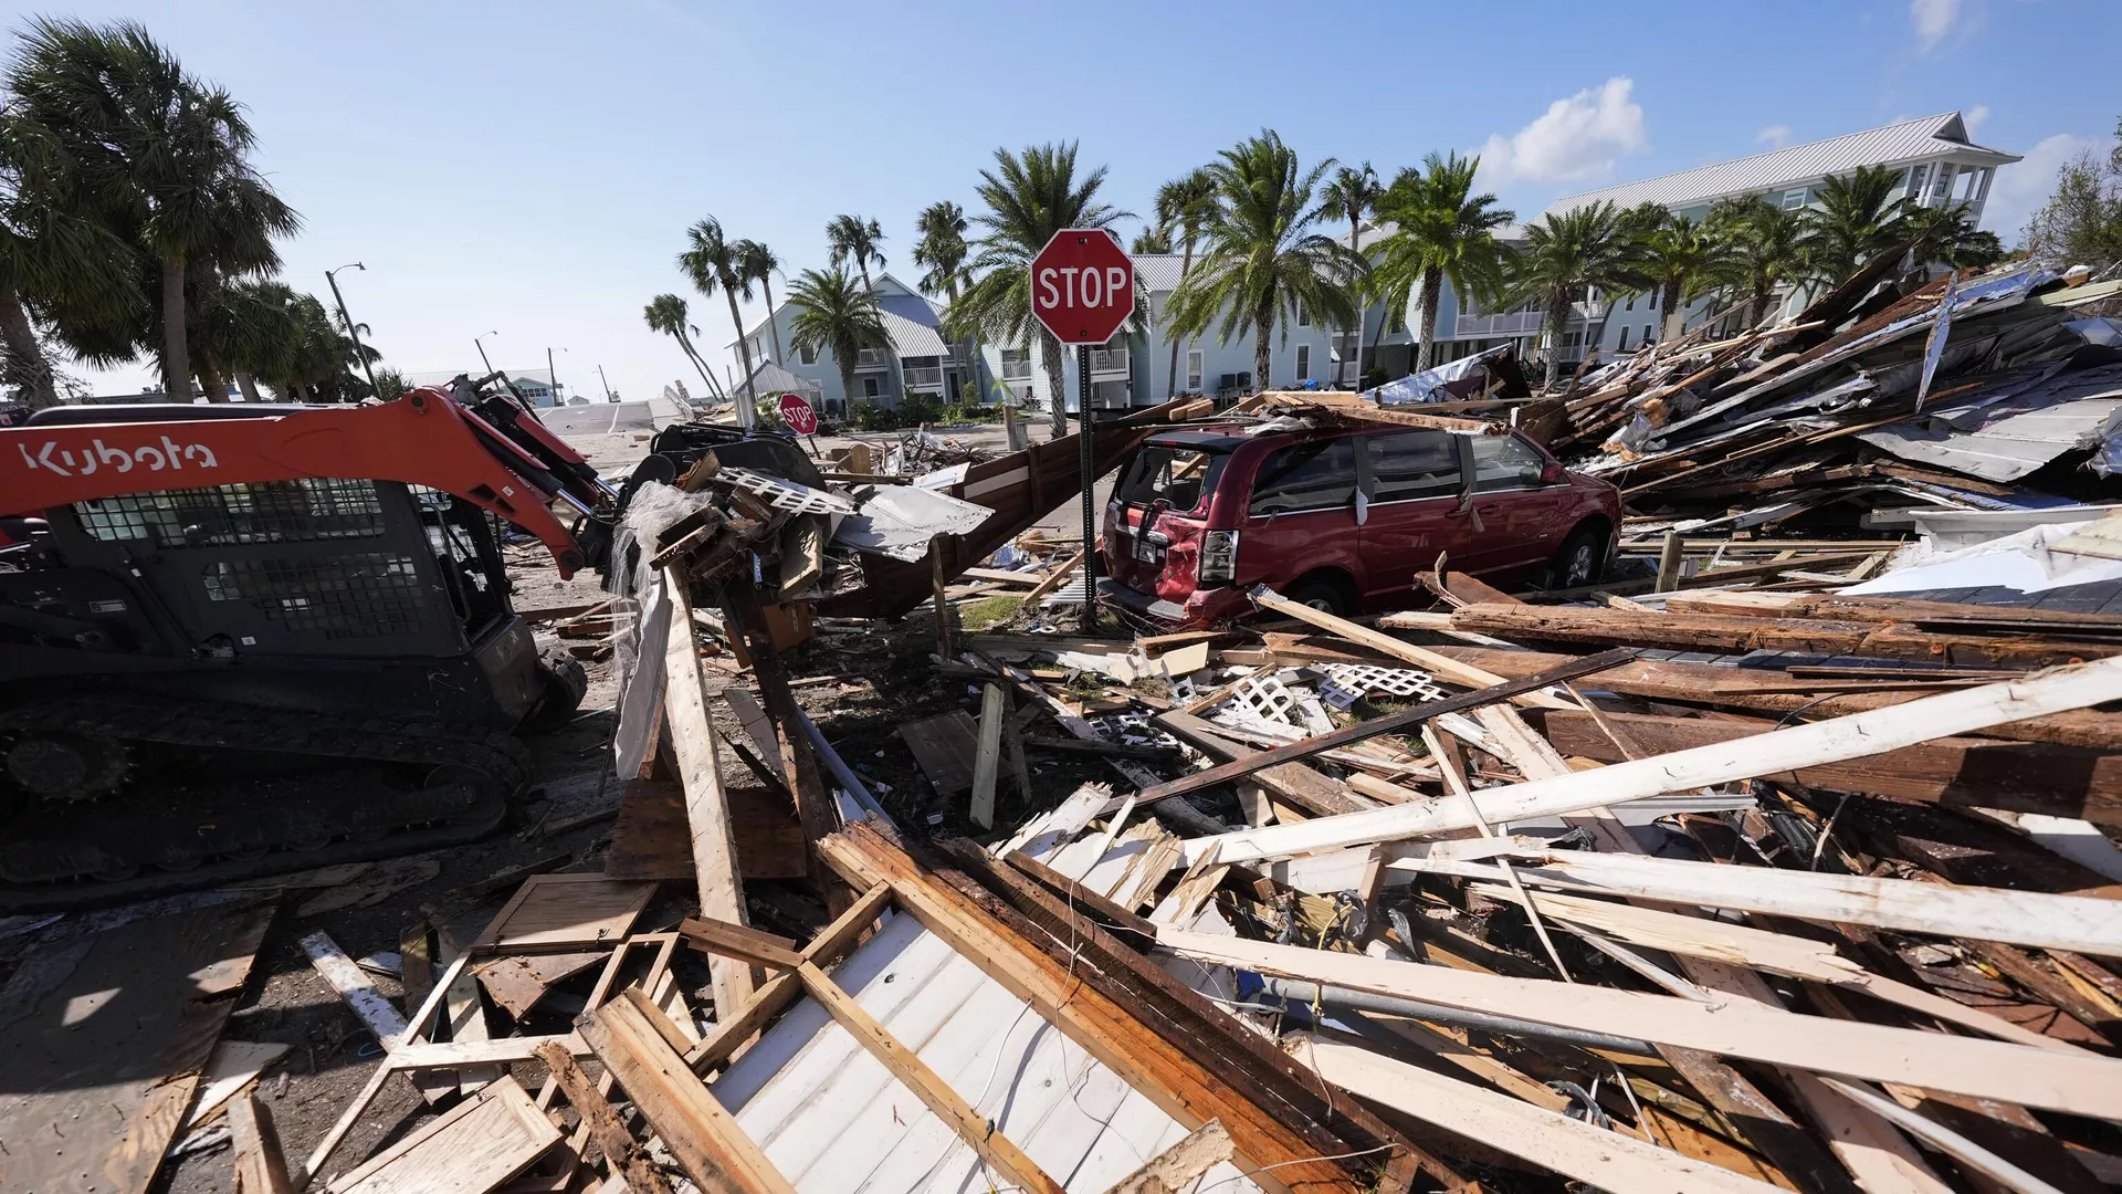
M1422 584L1437 565L1471 567L1473 518L1460 510L1462 436L1449 431L1379 431L1362 436L1369 465L1369 518L1358 533L1369 565L1367 597Z

